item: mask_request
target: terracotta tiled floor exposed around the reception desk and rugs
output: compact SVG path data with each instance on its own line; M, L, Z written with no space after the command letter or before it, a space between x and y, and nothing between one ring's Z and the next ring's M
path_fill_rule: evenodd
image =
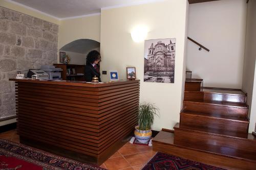
M16 130L0 133L0 138L19 143ZM138 170L141 169L154 155L152 147L131 144L127 142L114 155L106 160L101 167L110 170Z

